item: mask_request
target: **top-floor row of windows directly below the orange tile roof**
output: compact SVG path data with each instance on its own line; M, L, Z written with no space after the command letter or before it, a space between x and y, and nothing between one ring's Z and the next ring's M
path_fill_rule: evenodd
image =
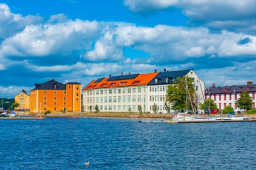
M104 89L87 91L87 95L107 95L107 94L125 94L125 93L146 93L146 87L127 88L127 89Z

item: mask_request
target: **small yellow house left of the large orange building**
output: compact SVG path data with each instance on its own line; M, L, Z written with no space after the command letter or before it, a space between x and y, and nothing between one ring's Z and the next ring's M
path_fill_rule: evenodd
M22 90L22 92L18 93L18 95L15 95L14 99L15 102L19 103L20 105L18 108L14 108L15 110L30 109L30 95L28 95L24 89Z

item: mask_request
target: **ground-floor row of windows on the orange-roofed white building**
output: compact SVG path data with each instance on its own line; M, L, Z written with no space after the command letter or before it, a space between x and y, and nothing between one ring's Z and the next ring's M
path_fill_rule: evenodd
M99 105L99 110L100 111L123 111L123 112L128 112L129 110L133 112L139 112L138 110L139 105ZM95 105L92 106L93 110L95 110ZM142 111L144 108L146 108L146 105L141 105ZM90 111L90 105L86 105L85 107L86 111Z

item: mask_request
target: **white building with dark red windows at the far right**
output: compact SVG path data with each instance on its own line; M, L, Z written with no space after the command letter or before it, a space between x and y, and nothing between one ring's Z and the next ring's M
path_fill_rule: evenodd
M255 108L256 85L253 85L252 81L248 81L247 85L222 87L216 87L215 83L213 83L212 87L205 89L205 98L214 100L220 110L223 110L227 105L231 105L235 111L238 111L239 108L243 108L243 103L236 103L236 101L240 98L243 91L247 91L252 97L252 107Z

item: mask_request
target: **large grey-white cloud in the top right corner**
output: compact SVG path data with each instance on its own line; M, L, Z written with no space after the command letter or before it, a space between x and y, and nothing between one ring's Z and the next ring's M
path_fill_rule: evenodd
M125 0L133 12L159 11L168 7L181 9L189 24L203 24L215 30L232 30L255 34L256 1L244 0Z

